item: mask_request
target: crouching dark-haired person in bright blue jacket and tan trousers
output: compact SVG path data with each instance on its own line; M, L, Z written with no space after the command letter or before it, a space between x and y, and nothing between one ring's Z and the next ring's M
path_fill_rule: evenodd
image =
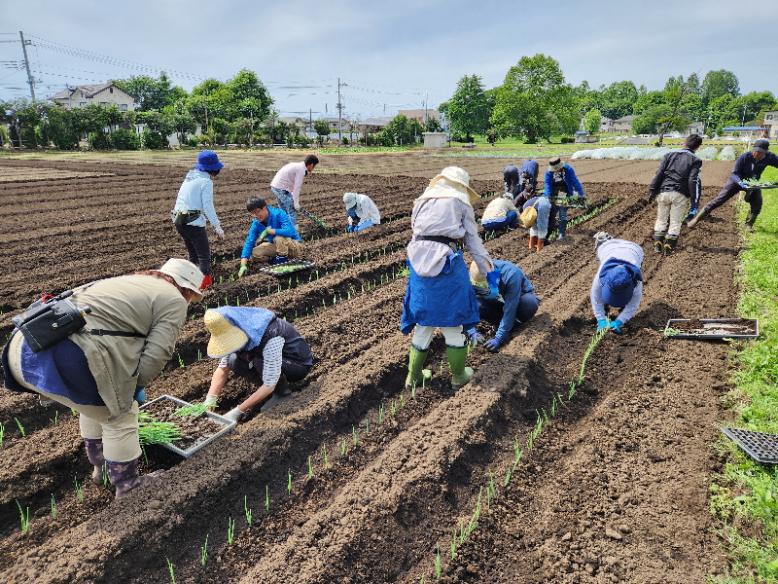
M249 197L246 210L253 219L240 254L239 278L248 271L252 255L262 263L273 265L302 257L303 243L285 211L271 207L261 197Z

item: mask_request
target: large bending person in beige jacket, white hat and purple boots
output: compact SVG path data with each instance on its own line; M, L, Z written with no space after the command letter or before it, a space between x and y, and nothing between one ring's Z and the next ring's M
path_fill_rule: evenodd
M69 298L91 309L85 328L38 352L17 331L3 350L8 389L79 412L92 481L102 483L105 467L117 499L152 480L138 475L138 404L170 360L188 304L202 298L202 281L199 268L181 259L98 280Z

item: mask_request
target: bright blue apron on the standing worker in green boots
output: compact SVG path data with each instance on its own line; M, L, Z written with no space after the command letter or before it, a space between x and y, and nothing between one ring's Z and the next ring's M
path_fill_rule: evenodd
M400 318L403 334L410 333L417 324L469 328L479 322L478 300L462 252L449 255L440 274L429 278L419 276L411 262L407 264L410 274Z

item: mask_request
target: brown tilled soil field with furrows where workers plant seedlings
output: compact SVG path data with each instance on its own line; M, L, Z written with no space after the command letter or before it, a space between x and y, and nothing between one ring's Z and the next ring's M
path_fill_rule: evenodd
M475 378L457 392L436 339L435 375L411 393L398 323L412 202L440 168L461 164L483 196L479 215L509 159L324 159L302 201L331 228L300 219L316 267L276 278L251 264L237 280L244 202L267 192L278 154L224 154L215 193L227 237L212 238L216 284L190 308L147 394L204 397L215 364L203 359L199 317L225 303L294 322L318 359L305 385L191 459L149 450L144 466L167 469L165 479L121 504L85 481L68 410L0 393L2 581L685 583L724 569L707 496L721 466L712 444L727 348L668 341L661 328L668 318L735 314L734 206L661 258L649 241L654 209L642 200L656 163L577 162L595 211L567 241L540 253L527 250L521 231L486 242L527 273L538 314L500 353L475 349ZM42 291L182 256L168 213L189 158L1 159L0 171L14 177L0 187L2 338ZM706 200L730 170L704 164ZM376 201L381 226L342 232L341 195L350 190ZM596 346L573 392L594 330L588 291L599 230L643 244L645 295L628 334ZM231 383L220 410L247 391ZM30 509L25 534L20 507Z

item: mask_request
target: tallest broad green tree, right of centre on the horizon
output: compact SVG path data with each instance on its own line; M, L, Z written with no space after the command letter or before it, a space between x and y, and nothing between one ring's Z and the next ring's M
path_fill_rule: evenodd
M530 143L552 134L569 134L578 126L572 87L553 58L522 57L497 89L492 123L502 134L523 136Z

